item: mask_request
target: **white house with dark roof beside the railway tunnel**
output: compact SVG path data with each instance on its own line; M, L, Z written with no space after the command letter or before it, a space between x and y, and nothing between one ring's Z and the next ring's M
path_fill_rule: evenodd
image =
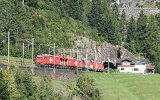
M150 65L148 69L147 59L121 59L117 63L117 69L120 72L126 73L146 73L147 71L152 72L154 67Z

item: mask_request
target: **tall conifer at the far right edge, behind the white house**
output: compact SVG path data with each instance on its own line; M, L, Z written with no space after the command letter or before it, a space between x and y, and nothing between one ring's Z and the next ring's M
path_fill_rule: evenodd
M147 25L147 33L144 37L145 48L143 52L146 53L146 57L149 58L151 62L158 61L160 59L160 53L158 51L160 48L160 34L155 21L155 16L151 15Z

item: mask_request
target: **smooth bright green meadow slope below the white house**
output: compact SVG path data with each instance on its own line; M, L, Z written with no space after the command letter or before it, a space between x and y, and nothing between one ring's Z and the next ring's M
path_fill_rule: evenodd
M95 85L104 100L159 100L160 76L94 73Z

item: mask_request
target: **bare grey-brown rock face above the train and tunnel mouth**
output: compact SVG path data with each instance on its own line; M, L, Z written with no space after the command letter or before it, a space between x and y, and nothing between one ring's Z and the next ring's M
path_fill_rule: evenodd
M107 42L97 44L94 41L89 40L88 38L81 37L75 41L76 47L79 47L81 54L89 60L97 61L112 61L114 62L117 59L117 50L121 48L121 58L134 58L134 55L130 53L127 49L114 46Z

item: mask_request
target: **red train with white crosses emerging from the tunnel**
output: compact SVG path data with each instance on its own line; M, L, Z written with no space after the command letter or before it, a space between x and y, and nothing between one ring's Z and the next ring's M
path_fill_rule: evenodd
M88 61L84 62L83 60L67 58L65 56L53 56L47 54L37 55L36 57L36 66L38 67L56 67L56 68L71 68L71 69L89 69L94 71L103 71L104 66L101 62Z

